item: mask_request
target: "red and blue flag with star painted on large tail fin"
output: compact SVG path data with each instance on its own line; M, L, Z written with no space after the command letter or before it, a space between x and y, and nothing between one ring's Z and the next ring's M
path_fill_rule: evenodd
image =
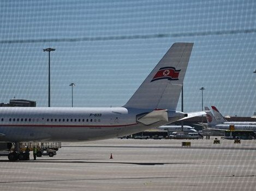
M153 81L157 81L158 79L168 79L168 80L178 80L178 75L181 70L176 70L175 67L161 67L156 75L154 75Z

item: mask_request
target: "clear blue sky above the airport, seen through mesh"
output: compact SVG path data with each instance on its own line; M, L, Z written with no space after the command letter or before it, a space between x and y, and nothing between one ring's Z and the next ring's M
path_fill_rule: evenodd
M256 112L255 1L1 1L0 102L120 107L174 42L194 42L184 112ZM177 110L181 110L178 103Z

